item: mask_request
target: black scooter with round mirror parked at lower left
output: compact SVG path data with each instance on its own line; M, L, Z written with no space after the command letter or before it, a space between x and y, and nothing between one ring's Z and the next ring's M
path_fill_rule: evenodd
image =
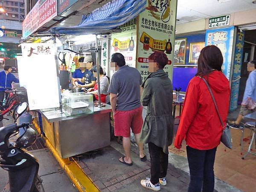
M17 108L18 117L24 113L28 105L26 102ZM15 143L9 143L9 138L24 129ZM9 172L9 183L3 192L44 192L42 180L38 176L38 160L24 148L35 143L35 130L29 123L12 124L0 128L0 167Z

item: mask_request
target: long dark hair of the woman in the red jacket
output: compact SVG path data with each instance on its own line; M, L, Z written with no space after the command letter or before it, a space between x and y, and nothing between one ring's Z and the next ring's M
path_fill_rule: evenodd
M201 50L198 58L198 72L195 76L205 76L212 70L221 71L223 56L221 50L215 45L208 45Z

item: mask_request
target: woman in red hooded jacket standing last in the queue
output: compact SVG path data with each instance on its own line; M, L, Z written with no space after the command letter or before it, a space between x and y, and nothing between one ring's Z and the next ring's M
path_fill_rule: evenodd
M204 47L198 58L198 73L191 79L186 91L175 147L181 148L183 139L186 140L190 172L189 192L201 192L202 186L203 192L214 191L213 165L223 128L212 96L200 77L208 81L221 119L226 125L230 85L221 72L222 64L223 57L218 47Z

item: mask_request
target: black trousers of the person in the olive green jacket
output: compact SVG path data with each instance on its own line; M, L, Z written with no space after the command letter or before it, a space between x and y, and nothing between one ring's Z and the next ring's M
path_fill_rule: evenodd
M158 147L154 143L148 143L148 150L150 154L150 173L151 183L157 184L159 178L166 177L168 168L168 154L163 152L163 148Z

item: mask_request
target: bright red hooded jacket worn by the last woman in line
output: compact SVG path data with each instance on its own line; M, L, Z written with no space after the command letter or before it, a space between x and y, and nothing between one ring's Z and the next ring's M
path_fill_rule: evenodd
M204 78L207 80L206 76ZM229 81L220 71L213 71L209 74L208 83L221 119L226 125L230 101ZM212 96L205 82L200 77L194 77L186 91L175 147L180 148L185 138L186 144L192 148L199 150L215 148L220 144L222 131Z

